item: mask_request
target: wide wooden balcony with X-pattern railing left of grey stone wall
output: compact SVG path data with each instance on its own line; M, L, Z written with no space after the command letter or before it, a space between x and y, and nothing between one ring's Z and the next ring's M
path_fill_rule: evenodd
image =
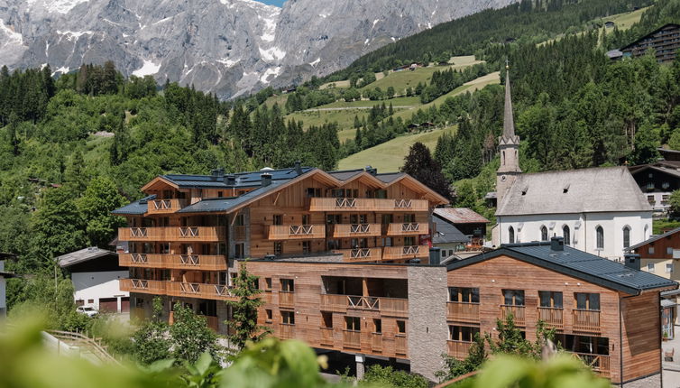
M321 294L321 309L335 312L346 312L347 309L365 309L380 311L382 315L386 316L407 317L409 314L409 300L372 296Z

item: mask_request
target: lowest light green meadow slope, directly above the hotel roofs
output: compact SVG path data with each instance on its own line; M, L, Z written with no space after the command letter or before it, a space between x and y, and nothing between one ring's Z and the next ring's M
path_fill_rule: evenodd
M354 153L339 162L338 168L359 169L371 165L378 169L378 172L399 171L404 164L404 158L409 153L409 147L416 142L424 143L430 150L434 150L436 139L442 134L455 132L456 127L450 126L445 129L438 129L418 134L404 134L396 137L387 143L378 144L375 147Z

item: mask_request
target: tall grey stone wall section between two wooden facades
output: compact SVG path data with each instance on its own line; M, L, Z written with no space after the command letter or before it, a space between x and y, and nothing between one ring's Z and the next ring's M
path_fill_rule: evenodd
M411 372L436 381L446 353L446 268L409 267L409 359Z

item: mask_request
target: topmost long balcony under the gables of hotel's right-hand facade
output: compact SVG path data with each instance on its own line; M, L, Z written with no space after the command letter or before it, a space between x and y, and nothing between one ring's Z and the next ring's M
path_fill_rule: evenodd
M313 198L309 211L427 211L426 199Z

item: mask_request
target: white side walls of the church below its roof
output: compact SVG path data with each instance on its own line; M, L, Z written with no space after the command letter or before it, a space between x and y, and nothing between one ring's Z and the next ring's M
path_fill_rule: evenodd
M574 213L531 216L498 217L501 244L508 244L508 229L515 229L515 243L541 240L541 226L547 227L547 236L563 236L563 226L569 226L570 246L609 259L623 257L623 228L630 228L630 245L649 238L652 232L651 212ZM551 227L552 226L552 227ZM578 227L576 227L578 226ZM604 249L597 249L597 226L604 229Z

